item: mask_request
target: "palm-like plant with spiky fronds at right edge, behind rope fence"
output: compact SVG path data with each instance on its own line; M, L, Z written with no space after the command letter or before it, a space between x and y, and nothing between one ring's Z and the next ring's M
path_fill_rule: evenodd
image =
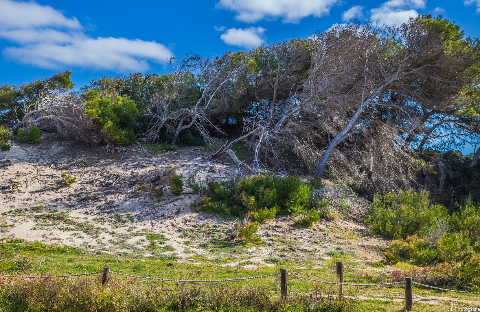
M480 284L480 257L466 256L456 261L454 254L438 252L440 258L451 267L451 277L457 286L479 286Z

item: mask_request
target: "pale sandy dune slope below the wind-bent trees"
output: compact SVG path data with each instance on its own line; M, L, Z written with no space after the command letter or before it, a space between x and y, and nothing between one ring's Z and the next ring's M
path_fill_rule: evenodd
M296 218L286 216L277 217L258 231L264 241L275 244L246 248L238 254L238 259L222 251L206 252L198 244L209 242L212 237L227 239L232 220L196 211L195 204L200 197L188 188L182 195L173 196L166 187L159 200L152 192L135 187L139 180L171 167L176 167L185 184L193 174L200 180L207 177L221 180L236 174L233 166L207 161L206 153L189 150L183 148L157 157L122 158L116 154L106 155L104 150L56 140L53 135L45 135L42 143L36 145L14 144L12 150L0 152L0 224L3 224L0 236L83 246L105 253L127 251L148 255L151 250L144 247L149 242L144 241L144 235L135 236L135 232L163 233L168 238L166 244L176 250L162 254L175 253L181 257L180 261L193 263L198 262L198 258L192 254L203 254L205 259L223 254L229 256L226 265L246 260L264 263L265 257L309 250L315 252L301 257L316 266L330 259L325 253L338 250L351 254L359 262L381 259L375 246L384 246L387 242L365 235L365 227L358 222L320 221L317 229L299 229L293 226ZM61 173L77 177L77 183L65 187ZM38 206L43 207L41 213L32 209ZM93 225L97 230L68 231L72 225L38 220L42 213L61 212L69 213L69 220ZM125 221L129 217L132 218ZM199 228L205 230L199 231ZM183 242L189 240L192 245L187 247ZM279 251L278 240L287 240L290 249Z

